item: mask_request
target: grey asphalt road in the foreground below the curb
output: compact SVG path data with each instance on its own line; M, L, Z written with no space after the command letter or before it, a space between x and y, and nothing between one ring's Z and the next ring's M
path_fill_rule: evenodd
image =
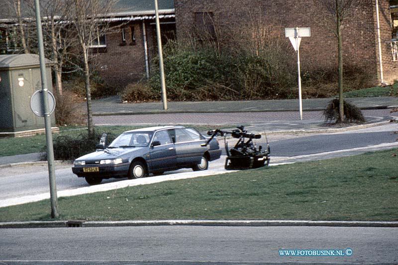
M398 228L146 226L1 229L0 263L397 264ZM352 250L281 257L279 250ZM27 263L25 263L27 262ZM143 263L146 262L146 263ZM206 263L205 263L206 264Z

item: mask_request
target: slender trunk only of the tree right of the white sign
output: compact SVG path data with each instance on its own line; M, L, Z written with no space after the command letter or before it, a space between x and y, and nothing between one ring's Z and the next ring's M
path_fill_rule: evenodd
M343 97L343 37L341 35L341 14L339 1L336 0L337 15L337 41L338 41L338 64L339 64L339 114L340 121L344 122L344 97Z

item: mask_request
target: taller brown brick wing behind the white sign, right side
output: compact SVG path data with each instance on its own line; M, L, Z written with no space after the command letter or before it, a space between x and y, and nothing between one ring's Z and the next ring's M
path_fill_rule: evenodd
M218 32L217 38L223 34L229 36L235 34L235 37L238 35L244 41L250 41L252 33L245 30L248 24L257 22L256 20L261 18L272 28L272 33L269 35L280 38L286 45L290 45L290 42L284 36L285 28L311 28L311 37L302 38L300 46L303 71L337 68L335 25L330 19L325 19L328 13L321 0L175 0L174 2L177 38L180 40L202 29L210 31L210 35ZM398 1L379 0L378 4L383 71L379 63L376 1L364 0L361 4L354 3L350 15L343 24L345 67L366 72L373 83L381 82L381 72L384 75L383 81L390 82L398 78ZM231 38L231 41L235 40ZM295 60L292 49L291 53L292 60Z

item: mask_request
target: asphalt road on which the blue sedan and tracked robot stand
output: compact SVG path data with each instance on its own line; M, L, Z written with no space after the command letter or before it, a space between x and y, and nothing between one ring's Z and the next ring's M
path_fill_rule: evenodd
M395 146L395 140L397 138L397 135L392 132L394 126L395 125L381 126L346 133L330 133L310 136L290 135L287 139L278 139L278 137L273 138L275 136L271 136L271 165L275 163L307 161L363 153L369 150L369 147L367 146L373 146L380 143L388 143L388 147L391 148L392 146ZM262 138L261 140L264 139ZM222 140L220 140L220 143L222 143ZM231 143L229 146L231 146ZM351 149L357 147L365 148L360 148L360 150ZM380 148L385 147L382 146ZM351 149L352 151L335 152L336 150L341 149ZM224 150L223 153L225 153ZM89 186L84 178L78 178L72 173L71 166L71 164L60 164L56 166L58 191L66 191ZM224 158L212 161L209 163L209 169L202 172L202 174L223 173L225 172L223 166ZM49 193L48 169L46 164L2 168L1 172L0 200ZM174 178L180 177L180 175L187 175L187 173L189 175L196 174L191 169L183 169L175 172L166 172L164 175ZM118 181L120 180L109 179L103 180L103 183Z

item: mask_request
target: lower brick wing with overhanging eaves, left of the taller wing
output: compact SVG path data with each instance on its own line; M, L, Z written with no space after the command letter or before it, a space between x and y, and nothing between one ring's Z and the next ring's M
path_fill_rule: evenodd
M162 43L175 38L175 14L173 0L158 0ZM41 4L50 6L51 0ZM30 0L21 0L22 21L31 25L34 10ZM92 44L97 56L100 76L115 92L131 82L149 74L150 61L157 54L155 4L153 0L118 0L112 13L105 14L110 21L105 36L98 36ZM42 14L45 19L45 15ZM33 21L34 22L34 21ZM19 34L15 10L12 4L0 5L0 54L23 53L16 35ZM33 25L35 28L35 26ZM27 38L35 38L33 30L26 30Z

